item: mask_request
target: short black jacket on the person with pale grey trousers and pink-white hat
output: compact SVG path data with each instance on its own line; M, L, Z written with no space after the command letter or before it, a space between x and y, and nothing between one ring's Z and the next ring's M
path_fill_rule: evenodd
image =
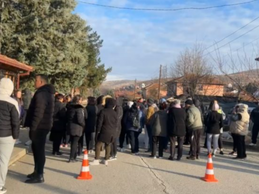
M206 118L206 132L209 134L220 134L220 129L223 127L222 114L217 111L212 111Z

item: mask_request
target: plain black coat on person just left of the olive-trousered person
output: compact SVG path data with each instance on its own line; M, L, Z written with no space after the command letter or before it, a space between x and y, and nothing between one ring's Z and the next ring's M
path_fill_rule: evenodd
M87 105L86 110L88 117L85 123L85 133L94 133L96 129L98 108L95 105Z

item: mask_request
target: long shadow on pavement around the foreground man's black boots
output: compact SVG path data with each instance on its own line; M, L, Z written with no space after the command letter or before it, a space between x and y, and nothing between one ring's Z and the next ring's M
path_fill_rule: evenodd
M20 182L24 182L25 180L28 179L28 178L26 178L25 174L21 174L21 173L11 171L11 170L8 171L8 176L13 178L13 179L16 179ZM75 192L75 191L69 191L69 190L66 190L66 189L62 189L62 187L56 187L56 186L53 186L53 185L49 185L46 182L41 183L41 184L34 184L34 186L35 186L35 189L38 187L38 188L41 188L41 189L44 189L44 190L51 191L52 193L80 194L80 193Z

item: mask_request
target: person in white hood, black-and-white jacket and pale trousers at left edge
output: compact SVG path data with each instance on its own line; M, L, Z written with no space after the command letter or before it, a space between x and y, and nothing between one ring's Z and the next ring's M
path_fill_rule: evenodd
M0 81L0 193L5 193L8 163L15 140L19 138L20 118L18 102L10 96L14 86L9 78Z

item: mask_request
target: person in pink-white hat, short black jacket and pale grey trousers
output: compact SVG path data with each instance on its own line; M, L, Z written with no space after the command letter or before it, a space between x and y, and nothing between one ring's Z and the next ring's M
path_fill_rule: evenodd
M212 156L215 157L215 154L218 149L218 138L220 134L220 129L223 127L223 117L222 114L218 113L219 106L214 104L212 106L212 112L206 118L206 127L207 127L207 148L208 154L211 153L211 141L213 138L213 152Z

